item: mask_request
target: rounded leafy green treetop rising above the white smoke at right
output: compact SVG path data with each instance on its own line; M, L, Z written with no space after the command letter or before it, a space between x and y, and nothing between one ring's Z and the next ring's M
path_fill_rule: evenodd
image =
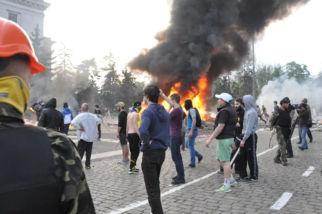
M305 64L297 64L292 61L285 65L284 74L289 78L294 77L298 82L303 82L308 80L310 77L310 72L307 69L308 66Z

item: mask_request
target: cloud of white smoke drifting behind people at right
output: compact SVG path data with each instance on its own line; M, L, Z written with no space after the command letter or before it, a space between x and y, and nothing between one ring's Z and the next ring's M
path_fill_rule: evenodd
M276 78L269 81L267 85L262 88L259 97L256 100L256 105L262 108L264 105L267 109L267 113L271 115L274 109L274 101L277 101L278 106L279 101L284 97L289 97L291 104L300 104L303 98L308 99L308 105L310 105L312 117L313 108L315 108L316 113L322 110L322 86L318 85L314 81L304 81L299 83L295 78L288 78L285 76Z

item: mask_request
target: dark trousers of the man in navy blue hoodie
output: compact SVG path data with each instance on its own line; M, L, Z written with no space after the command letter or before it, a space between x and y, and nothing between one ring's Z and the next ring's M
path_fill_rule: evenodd
M159 177L165 158L165 150L143 151L141 167L147 189L147 200L153 214L163 214Z

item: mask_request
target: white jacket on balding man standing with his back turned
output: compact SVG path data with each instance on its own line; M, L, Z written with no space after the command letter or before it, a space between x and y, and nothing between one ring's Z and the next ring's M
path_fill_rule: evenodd
M97 125L100 124L100 119L97 116L84 111L77 115L71 124L77 129L77 140L81 139L86 142L93 142L97 139ZM80 131L83 128L84 131Z

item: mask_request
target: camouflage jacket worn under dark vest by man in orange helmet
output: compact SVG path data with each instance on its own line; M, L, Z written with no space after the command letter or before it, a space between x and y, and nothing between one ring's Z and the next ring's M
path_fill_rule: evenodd
M48 141L46 141L50 143L48 146L52 150L52 162L54 165L52 174L55 177L55 183L58 187L58 200L60 201L60 208L58 209L61 210L60 213L95 213L81 158L75 144L65 134L43 127L25 125L21 114L14 107L0 103L0 131L10 129L12 132L15 128L21 129L24 127L27 127L28 130L31 130L35 134L42 135L45 133L48 137ZM17 135L19 135L18 131ZM26 142L28 142L28 139L26 139ZM5 143L10 145L10 139L6 140ZM45 141L41 143L45 143ZM30 156L32 157L40 152L42 151L33 151L33 154L30 154ZM38 208L34 207L34 209L36 210ZM50 209L48 207L48 210Z

